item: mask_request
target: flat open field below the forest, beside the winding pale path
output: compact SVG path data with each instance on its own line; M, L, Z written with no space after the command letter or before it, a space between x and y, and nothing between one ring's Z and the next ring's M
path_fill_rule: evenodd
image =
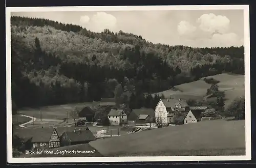
M69 111L75 106L77 106L78 108L83 108L85 106L92 107L94 105L98 105L98 102L84 102L77 104L44 106L40 107L41 118L63 120L67 118L67 111L69 113ZM35 108L24 108L19 110L19 113L40 119L40 110Z

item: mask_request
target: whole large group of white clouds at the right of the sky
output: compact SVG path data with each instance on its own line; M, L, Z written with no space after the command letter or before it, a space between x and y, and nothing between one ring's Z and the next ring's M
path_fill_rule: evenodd
M212 13L203 14L197 19L199 29L186 21L178 24L178 33L183 45L191 47L241 46L243 40L229 31L229 19Z

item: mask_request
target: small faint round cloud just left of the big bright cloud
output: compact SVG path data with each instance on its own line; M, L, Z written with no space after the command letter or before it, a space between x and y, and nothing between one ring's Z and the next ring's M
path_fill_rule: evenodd
M195 31L197 30L197 27L190 24L187 21L181 21L178 24L177 29L180 36L190 36L193 33L195 33Z

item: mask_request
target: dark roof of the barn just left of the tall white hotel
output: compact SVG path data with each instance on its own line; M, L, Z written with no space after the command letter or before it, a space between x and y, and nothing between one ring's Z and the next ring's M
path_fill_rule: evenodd
M149 115L150 117L155 117L155 111L152 108L138 108L133 109L130 115L127 117L128 121L139 120L140 115Z

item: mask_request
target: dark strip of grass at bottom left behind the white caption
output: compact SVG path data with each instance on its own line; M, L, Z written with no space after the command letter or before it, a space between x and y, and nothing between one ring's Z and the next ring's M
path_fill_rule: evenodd
M91 147L89 144L80 144L80 145L72 145L72 146L66 146L66 147L60 147L60 148L55 148L49 151L62 151L64 152L66 151L79 151L79 152L83 152L83 151L92 151L91 153L87 152L87 153L78 153L78 154L59 154L59 153L55 153L55 154L23 154L22 156L19 157L100 157L102 156L97 150L95 150L93 147Z

